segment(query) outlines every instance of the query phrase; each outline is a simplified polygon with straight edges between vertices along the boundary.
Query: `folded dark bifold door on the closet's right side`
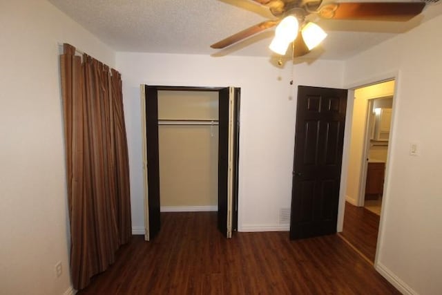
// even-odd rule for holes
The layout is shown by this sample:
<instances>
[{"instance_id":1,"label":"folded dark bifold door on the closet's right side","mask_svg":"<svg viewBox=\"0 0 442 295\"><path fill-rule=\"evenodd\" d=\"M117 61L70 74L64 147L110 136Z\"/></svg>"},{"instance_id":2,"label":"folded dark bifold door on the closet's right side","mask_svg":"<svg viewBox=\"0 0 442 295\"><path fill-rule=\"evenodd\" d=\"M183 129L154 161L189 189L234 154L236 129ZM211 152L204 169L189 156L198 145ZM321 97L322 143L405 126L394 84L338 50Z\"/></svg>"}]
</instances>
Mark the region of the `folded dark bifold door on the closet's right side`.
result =
<instances>
[{"instance_id":1,"label":"folded dark bifold door on the closet's right side","mask_svg":"<svg viewBox=\"0 0 442 295\"><path fill-rule=\"evenodd\" d=\"M218 229L227 238L238 226L240 89L219 91Z\"/></svg>"}]
</instances>

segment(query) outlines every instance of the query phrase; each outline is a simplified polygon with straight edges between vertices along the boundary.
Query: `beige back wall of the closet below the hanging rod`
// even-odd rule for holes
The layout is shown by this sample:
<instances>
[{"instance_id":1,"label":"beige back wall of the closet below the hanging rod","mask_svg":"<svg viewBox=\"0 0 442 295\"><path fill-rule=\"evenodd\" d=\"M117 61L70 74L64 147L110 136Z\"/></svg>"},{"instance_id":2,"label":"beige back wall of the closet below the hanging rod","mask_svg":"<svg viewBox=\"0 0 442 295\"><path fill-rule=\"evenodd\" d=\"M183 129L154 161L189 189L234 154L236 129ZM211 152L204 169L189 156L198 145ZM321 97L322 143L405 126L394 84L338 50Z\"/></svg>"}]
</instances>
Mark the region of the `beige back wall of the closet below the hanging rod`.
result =
<instances>
[{"instance_id":1,"label":"beige back wall of the closet below the hanging rod","mask_svg":"<svg viewBox=\"0 0 442 295\"><path fill-rule=\"evenodd\" d=\"M218 204L218 126L160 126L162 207Z\"/></svg>"}]
</instances>

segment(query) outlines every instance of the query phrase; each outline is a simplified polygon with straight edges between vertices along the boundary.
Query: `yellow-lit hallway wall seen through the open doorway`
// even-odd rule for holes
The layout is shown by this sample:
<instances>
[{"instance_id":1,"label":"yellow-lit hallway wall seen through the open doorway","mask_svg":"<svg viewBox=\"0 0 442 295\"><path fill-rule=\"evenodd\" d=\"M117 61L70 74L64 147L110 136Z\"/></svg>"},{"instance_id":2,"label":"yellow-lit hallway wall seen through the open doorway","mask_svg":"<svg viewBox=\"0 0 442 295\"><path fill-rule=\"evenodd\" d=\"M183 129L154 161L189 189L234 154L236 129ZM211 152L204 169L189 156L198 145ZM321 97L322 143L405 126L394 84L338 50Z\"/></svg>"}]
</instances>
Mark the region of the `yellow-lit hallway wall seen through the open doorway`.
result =
<instances>
[{"instance_id":1,"label":"yellow-lit hallway wall seen through the open doorway","mask_svg":"<svg viewBox=\"0 0 442 295\"><path fill-rule=\"evenodd\" d=\"M365 149L364 135L367 120L368 101L369 99L374 99L376 97L385 97L393 94L394 81L358 88L354 92L355 98L352 116L352 135L350 139L346 192L346 199L352 204L358 204L358 196L361 188L361 164Z\"/></svg>"}]
</instances>

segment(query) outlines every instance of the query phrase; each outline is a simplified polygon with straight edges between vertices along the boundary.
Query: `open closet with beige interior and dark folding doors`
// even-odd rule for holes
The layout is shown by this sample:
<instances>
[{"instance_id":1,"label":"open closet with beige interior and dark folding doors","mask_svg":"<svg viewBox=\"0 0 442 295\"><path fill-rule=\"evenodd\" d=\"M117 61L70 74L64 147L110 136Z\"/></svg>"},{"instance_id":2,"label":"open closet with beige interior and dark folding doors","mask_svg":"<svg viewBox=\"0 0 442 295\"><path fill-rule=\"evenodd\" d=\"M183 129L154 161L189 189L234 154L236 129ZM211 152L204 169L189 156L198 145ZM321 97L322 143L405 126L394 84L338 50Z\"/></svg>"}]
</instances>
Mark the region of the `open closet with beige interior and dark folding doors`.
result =
<instances>
[{"instance_id":1,"label":"open closet with beige interior and dark folding doors","mask_svg":"<svg viewBox=\"0 0 442 295\"><path fill-rule=\"evenodd\" d=\"M227 238L238 225L240 88L141 86L145 239L160 211L218 210Z\"/></svg>"}]
</instances>

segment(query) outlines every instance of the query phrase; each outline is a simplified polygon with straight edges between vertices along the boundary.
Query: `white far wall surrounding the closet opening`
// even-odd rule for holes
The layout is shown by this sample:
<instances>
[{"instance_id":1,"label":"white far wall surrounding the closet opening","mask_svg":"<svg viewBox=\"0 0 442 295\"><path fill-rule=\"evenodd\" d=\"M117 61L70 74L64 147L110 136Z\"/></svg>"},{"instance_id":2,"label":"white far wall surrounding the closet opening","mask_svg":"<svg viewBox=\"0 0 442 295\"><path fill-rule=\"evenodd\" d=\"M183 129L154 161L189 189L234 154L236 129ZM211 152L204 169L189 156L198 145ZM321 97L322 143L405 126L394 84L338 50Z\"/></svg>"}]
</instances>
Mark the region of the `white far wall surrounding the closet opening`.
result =
<instances>
[{"instance_id":1,"label":"white far wall surrounding the closet opening","mask_svg":"<svg viewBox=\"0 0 442 295\"><path fill-rule=\"evenodd\" d=\"M299 84L342 86L343 63L316 61L277 68L262 57L117 53L124 77L124 112L131 166L134 233L144 228L140 84L241 88L239 229L287 230L280 208L290 208L296 91Z\"/></svg>"}]
</instances>

